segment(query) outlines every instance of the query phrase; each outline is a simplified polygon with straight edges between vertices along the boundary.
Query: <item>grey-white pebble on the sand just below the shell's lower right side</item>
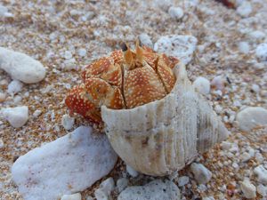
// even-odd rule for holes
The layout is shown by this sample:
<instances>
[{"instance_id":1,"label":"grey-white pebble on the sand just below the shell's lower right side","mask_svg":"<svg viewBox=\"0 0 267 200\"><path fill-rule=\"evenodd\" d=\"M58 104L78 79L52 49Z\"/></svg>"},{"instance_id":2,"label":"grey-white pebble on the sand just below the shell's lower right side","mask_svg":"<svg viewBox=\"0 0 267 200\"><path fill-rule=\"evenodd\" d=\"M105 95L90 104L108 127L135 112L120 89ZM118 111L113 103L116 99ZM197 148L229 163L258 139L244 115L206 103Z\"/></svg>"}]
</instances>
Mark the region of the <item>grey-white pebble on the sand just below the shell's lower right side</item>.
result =
<instances>
[{"instance_id":1,"label":"grey-white pebble on the sand just below the shell's lower right side","mask_svg":"<svg viewBox=\"0 0 267 200\"><path fill-rule=\"evenodd\" d=\"M212 178L212 172L206 169L203 164L192 163L190 171L193 172L194 178L199 184L206 184Z\"/></svg>"}]
</instances>

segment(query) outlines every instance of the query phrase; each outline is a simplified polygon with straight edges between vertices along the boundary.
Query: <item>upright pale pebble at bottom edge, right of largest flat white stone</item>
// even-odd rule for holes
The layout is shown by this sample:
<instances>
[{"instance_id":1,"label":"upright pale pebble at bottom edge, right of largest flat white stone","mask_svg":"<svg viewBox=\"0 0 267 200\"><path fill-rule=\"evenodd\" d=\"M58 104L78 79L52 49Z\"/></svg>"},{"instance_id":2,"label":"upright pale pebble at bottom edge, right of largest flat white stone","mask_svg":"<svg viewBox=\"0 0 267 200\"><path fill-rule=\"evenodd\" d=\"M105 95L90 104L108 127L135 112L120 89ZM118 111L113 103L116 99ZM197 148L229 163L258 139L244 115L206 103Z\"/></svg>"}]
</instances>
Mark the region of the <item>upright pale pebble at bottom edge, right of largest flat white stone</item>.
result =
<instances>
[{"instance_id":1,"label":"upright pale pebble at bottom edge, right of largest flat white stone","mask_svg":"<svg viewBox=\"0 0 267 200\"><path fill-rule=\"evenodd\" d=\"M94 192L94 196L97 200L108 200L111 191L115 188L113 178L109 178L101 182L100 188L97 188Z\"/></svg>"}]
</instances>

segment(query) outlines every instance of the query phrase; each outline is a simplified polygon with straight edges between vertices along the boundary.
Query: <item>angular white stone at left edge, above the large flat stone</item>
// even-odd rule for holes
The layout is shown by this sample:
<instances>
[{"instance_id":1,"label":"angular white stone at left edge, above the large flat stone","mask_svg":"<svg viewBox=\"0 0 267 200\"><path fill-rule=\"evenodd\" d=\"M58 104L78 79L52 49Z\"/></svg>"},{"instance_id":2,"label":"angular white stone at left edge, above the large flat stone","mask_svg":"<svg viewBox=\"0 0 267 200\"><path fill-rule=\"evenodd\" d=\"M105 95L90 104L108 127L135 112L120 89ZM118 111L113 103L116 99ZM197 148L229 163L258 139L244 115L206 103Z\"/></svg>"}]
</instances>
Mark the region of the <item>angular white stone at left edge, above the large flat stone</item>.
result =
<instances>
[{"instance_id":1,"label":"angular white stone at left edge, above the large flat stone","mask_svg":"<svg viewBox=\"0 0 267 200\"><path fill-rule=\"evenodd\" d=\"M15 128L20 128L28 121L28 107L2 108L4 118Z\"/></svg>"}]
</instances>

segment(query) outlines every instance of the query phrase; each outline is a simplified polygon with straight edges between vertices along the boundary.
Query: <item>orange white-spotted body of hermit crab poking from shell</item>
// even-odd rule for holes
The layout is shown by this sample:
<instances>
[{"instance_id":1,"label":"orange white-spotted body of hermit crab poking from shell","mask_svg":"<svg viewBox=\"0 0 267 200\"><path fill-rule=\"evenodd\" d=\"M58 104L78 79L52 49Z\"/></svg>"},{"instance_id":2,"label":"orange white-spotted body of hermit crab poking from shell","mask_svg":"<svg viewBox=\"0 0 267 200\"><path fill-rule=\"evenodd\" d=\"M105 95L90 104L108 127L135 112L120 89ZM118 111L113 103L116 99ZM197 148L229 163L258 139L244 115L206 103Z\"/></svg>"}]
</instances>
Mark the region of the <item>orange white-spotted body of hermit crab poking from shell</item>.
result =
<instances>
[{"instance_id":1,"label":"orange white-spotted body of hermit crab poking from shell","mask_svg":"<svg viewBox=\"0 0 267 200\"><path fill-rule=\"evenodd\" d=\"M84 83L73 88L65 102L71 112L101 124L102 105L134 108L165 97L174 87L172 68L178 61L138 42L135 51L124 45L123 51L87 66L82 73Z\"/></svg>"}]
</instances>

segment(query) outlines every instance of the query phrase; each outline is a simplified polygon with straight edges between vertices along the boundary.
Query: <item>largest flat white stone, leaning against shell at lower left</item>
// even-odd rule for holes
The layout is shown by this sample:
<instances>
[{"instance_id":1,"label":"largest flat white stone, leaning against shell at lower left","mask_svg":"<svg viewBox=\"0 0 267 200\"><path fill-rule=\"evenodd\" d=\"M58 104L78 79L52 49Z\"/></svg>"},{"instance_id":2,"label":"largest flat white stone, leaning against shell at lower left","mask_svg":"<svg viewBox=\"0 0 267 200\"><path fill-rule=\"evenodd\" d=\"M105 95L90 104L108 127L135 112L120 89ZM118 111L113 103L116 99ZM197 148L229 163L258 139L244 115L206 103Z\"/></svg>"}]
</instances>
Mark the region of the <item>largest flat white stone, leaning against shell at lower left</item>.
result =
<instances>
[{"instance_id":1,"label":"largest flat white stone, leaning against shell at lower left","mask_svg":"<svg viewBox=\"0 0 267 200\"><path fill-rule=\"evenodd\" d=\"M105 134L80 126L20 156L12 165L12 180L25 200L55 200L91 187L113 169L116 161Z\"/></svg>"}]
</instances>

